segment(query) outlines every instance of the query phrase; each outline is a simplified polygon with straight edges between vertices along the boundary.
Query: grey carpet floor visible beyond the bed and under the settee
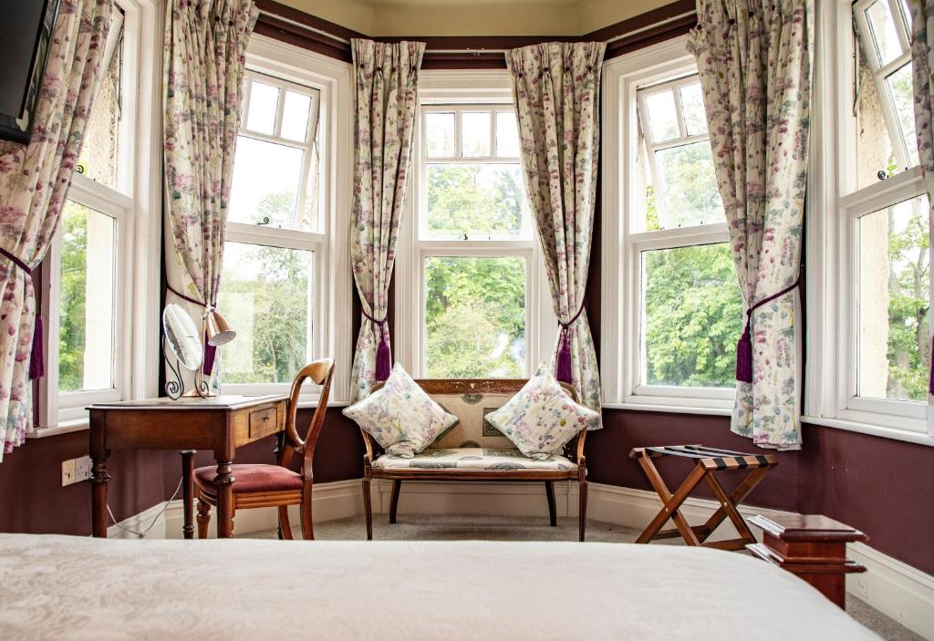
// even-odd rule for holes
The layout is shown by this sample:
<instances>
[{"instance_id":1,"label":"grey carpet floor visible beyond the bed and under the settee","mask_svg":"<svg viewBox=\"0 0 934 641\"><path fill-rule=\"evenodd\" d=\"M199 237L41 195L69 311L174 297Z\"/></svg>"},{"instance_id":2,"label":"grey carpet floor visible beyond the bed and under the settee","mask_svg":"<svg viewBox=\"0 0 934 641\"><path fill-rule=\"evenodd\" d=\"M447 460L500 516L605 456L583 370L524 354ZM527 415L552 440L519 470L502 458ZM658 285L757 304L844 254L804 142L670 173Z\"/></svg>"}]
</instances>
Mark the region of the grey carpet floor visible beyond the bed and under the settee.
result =
<instances>
[{"instance_id":1,"label":"grey carpet floor visible beyond the bed and under the settee","mask_svg":"<svg viewBox=\"0 0 934 641\"><path fill-rule=\"evenodd\" d=\"M292 523L292 531L301 537L301 527ZM631 543L639 532L628 527L589 521L587 540L609 543ZM249 538L276 538L276 531L243 535ZM577 540L577 519L559 519L557 527L548 525L547 518L492 517L460 515L400 514L398 523L389 525L385 514L375 514L373 536L376 540L415 541L574 541ZM362 540L366 528L362 516L315 523L315 537L331 540ZM659 541L661 544L679 545L677 539ZM653 545L656 545L653 543ZM860 601L852 594L846 596L847 613L879 634L887 641L924 641L923 637L886 617L882 612Z\"/></svg>"}]
</instances>

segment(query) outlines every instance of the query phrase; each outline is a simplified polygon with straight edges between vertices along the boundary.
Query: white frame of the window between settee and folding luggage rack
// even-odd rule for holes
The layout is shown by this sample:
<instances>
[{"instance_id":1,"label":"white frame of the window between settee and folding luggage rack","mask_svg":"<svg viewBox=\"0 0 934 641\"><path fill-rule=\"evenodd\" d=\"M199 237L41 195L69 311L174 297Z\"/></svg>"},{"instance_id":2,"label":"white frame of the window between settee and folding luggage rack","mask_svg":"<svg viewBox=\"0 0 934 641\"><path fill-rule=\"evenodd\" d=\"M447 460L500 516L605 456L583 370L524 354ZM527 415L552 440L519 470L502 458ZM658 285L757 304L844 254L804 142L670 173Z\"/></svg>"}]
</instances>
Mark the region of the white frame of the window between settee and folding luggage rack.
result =
<instances>
[{"instance_id":1,"label":"white frame of the window between settee and folding luggage rack","mask_svg":"<svg viewBox=\"0 0 934 641\"><path fill-rule=\"evenodd\" d=\"M603 68L601 384L610 409L729 414L735 388L646 385L642 358L642 252L729 241L726 223L644 231L640 202L639 87L671 88L697 73L686 36L634 51ZM672 83L665 82L670 78ZM651 90L650 90L651 91ZM660 88L659 90L660 91ZM681 132L686 134L683 129ZM682 137L683 145L706 136ZM651 144L651 139L646 138ZM665 141L659 146L671 146ZM612 177L611 177L612 176ZM659 193L658 200L663 200ZM620 278L614 278L620 274ZM738 338L738 337L737 337Z\"/></svg>"}]
</instances>

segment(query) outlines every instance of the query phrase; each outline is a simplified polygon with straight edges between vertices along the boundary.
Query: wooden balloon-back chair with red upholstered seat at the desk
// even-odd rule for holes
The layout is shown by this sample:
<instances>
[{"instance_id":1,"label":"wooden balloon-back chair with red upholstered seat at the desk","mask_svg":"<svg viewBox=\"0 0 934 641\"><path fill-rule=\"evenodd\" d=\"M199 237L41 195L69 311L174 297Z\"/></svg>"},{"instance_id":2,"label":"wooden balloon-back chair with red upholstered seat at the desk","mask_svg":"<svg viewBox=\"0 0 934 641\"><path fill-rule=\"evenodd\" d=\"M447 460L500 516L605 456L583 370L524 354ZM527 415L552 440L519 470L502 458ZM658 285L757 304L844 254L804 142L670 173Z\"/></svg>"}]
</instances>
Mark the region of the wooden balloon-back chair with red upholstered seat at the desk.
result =
<instances>
[{"instance_id":1,"label":"wooden balloon-back chair with red upholstered seat at the desk","mask_svg":"<svg viewBox=\"0 0 934 641\"><path fill-rule=\"evenodd\" d=\"M273 508L279 509L279 538L291 538L289 506L302 506L302 536L315 538L311 520L311 488L314 482L312 459L315 445L324 426L324 415L328 410L328 396L331 393L331 378L334 373L333 358L323 358L310 363L295 376L289 398L289 411L286 415L285 433L279 448L276 465L234 465L233 466L233 514L238 509ZM298 398L305 379L321 385L318 407L308 425L304 439L295 429L295 414L298 411ZM302 471L293 472L289 466L292 456L302 454ZM211 506L217 507L218 493L214 478L216 467L198 467L194 470L195 494L198 497L198 538L207 537L207 525L211 521Z\"/></svg>"}]
</instances>

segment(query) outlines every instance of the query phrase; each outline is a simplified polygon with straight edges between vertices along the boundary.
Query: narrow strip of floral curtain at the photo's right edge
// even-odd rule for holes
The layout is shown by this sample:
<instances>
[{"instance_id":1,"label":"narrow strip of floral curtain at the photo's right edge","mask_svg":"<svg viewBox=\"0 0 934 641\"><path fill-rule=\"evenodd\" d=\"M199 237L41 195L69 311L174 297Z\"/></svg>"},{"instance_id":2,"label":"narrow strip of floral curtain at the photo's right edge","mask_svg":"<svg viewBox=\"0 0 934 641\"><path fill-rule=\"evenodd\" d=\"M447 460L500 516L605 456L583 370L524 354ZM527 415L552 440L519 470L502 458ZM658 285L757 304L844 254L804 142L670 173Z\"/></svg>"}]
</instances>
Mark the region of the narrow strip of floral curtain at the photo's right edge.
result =
<instances>
[{"instance_id":1,"label":"narrow strip of floral curtain at the photo's right edge","mask_svg":"<svg viewBox=\"0 0 934 641\"><path fill-rule=\"evenodd\" d=\"M934 93L934 49L927 28L934 33L934 0L908 0L912 14L912 69L914 85L914 131L918 135L918 159L924 174L927 201L930 202L928 246L934 247L934 132L931 132L931 98ZM934 347L934 343L932 343ZM929 363L927 391L934 394L934 349Z\"/></svg>"}]
</instances>

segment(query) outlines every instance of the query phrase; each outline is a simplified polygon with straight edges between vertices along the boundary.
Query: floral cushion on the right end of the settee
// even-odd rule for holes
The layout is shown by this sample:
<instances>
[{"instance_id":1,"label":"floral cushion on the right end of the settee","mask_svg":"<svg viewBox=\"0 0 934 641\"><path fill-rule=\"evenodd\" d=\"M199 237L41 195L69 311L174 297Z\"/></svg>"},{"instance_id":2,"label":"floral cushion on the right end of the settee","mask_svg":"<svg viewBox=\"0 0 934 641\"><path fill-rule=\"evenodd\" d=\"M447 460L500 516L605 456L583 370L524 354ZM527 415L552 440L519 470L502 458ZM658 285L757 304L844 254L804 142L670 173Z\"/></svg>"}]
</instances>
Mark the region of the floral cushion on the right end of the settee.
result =
<instances>
[{"instance_id":1,"label":"floral cushion on the right end of the settee","mask_svg":"<svg viewBox=\"0 0 934 641\"><path fill-rule=\"evenodd\" d=\"M497 411L487 414L529 458L542 460L574 435L600 418L600 414L573 401L543 363L535 376Z\"/></svg>"}]
</instances>

